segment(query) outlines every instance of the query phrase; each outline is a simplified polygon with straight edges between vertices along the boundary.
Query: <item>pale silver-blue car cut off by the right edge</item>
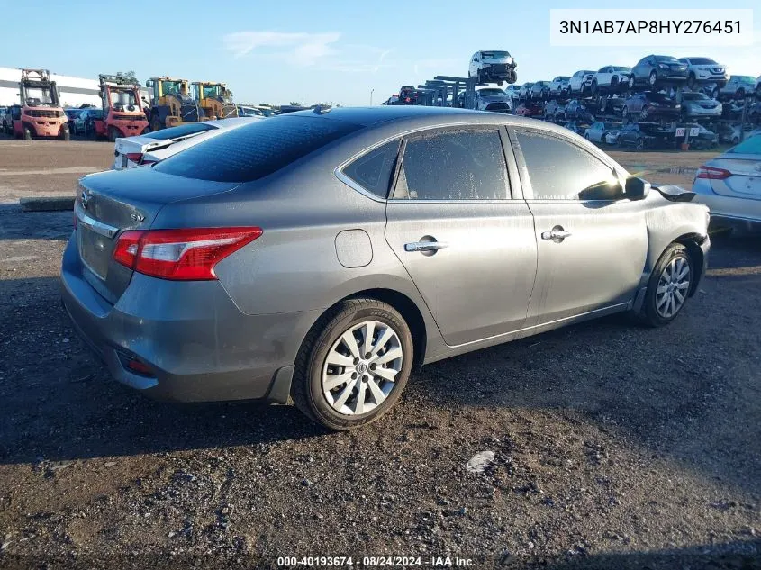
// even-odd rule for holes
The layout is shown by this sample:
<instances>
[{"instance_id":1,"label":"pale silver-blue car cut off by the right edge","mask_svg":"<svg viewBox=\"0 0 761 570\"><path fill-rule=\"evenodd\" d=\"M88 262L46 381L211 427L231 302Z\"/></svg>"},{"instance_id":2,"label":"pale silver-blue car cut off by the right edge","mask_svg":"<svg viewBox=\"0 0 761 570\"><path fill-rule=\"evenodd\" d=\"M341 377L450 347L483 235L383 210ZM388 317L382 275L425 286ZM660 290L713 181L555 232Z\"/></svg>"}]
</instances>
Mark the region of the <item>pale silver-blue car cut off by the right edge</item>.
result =
<instances>
[{"instance_id":1,"label":"pale silver-blue car cut off by the right edge","mask_svg":"<svg viewBox=\"0 0 761 570\"><path fill-rule=\"evenodd\" d=\"M761 134L700 167L693 192L711 209L714 225L761 231Z\"/></svg>"}]
</instances>

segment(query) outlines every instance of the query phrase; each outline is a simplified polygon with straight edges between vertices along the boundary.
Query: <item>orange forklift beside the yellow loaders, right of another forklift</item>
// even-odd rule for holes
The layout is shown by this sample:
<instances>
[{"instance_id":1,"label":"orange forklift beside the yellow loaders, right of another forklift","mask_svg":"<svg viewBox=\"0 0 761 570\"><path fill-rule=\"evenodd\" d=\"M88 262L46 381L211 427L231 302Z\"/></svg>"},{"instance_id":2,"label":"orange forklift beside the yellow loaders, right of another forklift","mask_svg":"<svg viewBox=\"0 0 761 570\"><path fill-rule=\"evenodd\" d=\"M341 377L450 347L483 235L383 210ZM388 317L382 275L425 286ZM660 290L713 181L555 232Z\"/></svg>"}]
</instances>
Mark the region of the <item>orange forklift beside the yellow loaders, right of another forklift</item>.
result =
<instances>
[{"instance_id":1,"label":"orange forklift beside the yellow loaders, right of another forklift","mask_svg":"<svg viewBox=\"0 0 761 570\"><path fill-rule=\"evenodd\" d=\"M121 74L101 74L100 96L103 101L103 119L93 121L95 137L133 137L148 131L148 118L140 104L140 84Z\"/></svg>"}]
</instances>

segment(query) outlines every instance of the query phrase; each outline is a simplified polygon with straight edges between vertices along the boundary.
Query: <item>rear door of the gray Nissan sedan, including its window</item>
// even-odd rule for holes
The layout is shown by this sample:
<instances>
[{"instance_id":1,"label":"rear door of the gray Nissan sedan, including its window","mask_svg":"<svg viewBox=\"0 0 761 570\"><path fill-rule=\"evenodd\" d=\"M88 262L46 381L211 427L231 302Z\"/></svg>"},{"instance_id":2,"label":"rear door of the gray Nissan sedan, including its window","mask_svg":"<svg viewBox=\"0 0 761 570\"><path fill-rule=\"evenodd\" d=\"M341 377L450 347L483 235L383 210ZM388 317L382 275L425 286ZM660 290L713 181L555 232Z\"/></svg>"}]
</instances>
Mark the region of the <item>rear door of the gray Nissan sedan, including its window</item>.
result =
<instances>
[{"instance_id":1,"label":"rear door of the gray Nissan sedan, including its window","mask_svg":"<svg viewBox=\"0 0 761 570\"><path fill-rule=\"evenodd\" d=\"M537 244L499 125L423 131L403 140L385 236L450 346L526 321ZM509 147L507 147L509 149Z\"/></svg>"}]
</instances>

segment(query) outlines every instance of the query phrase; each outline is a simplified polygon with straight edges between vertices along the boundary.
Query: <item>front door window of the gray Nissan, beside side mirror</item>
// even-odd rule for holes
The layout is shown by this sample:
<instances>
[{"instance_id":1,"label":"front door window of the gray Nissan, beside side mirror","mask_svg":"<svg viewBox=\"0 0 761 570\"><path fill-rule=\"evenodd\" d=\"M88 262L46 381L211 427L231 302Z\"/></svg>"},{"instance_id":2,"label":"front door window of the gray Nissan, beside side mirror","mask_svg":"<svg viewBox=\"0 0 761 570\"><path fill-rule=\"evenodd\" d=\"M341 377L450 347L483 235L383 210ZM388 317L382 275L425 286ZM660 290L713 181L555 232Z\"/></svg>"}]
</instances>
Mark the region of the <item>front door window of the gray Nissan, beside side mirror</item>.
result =
<instances>
[{"instance_id":1,"label":"front door window of the gray Nissan, beside side mirror","mask_svg":"<svg viewBox=\"0 0 761 570\"><path fill-rule=\"evenodd\" d=\"M517 131L534 200L616 200L623 190L613 169L562 139Z\"/></svg>"}]
</instances>

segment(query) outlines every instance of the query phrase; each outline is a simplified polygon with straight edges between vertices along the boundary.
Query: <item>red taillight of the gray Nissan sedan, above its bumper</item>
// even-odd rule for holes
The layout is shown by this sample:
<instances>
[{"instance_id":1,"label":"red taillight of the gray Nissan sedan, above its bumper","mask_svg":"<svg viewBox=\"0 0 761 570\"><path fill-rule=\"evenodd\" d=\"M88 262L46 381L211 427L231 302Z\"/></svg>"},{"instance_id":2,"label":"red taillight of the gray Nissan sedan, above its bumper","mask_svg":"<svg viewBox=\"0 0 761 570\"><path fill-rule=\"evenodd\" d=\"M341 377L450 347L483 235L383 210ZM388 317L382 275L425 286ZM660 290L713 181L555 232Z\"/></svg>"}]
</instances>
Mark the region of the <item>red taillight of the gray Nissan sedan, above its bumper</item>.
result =
<instances>
[{"instance_id":1,"label":"red taillight of the gray Nissan sedan, above its bumper","mask_svg":"<svg viewBox=\"0 0 761 570\"><path fill-rule=\"evenodd\" d=\"M113 259L161 279L211 280L217 263L261 234L261 228L125 231Z\"/></svg>"}]
</instances>

